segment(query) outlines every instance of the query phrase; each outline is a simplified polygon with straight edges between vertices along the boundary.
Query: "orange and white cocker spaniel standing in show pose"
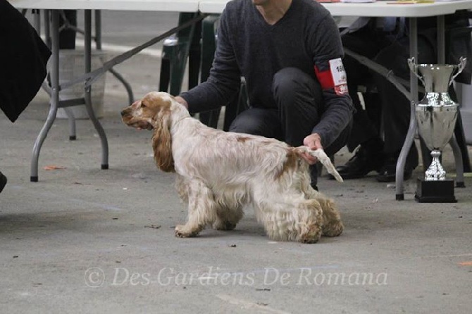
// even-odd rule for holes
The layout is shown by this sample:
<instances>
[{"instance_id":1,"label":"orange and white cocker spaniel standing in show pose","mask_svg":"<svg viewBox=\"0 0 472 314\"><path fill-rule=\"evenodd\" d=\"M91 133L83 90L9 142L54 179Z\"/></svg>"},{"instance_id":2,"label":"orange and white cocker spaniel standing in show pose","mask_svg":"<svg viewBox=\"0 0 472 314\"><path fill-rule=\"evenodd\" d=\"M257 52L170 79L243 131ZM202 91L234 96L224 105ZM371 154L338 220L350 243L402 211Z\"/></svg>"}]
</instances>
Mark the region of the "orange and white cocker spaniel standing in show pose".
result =
<instances>
[{"instance_id":1,"label":"orange and white cocker spaniel standing in show pose","mask_svg":"<svg viewBox=\"0 0 472 314\"><path fill-rule=\"evenodd\" d=\"M188 204L177 237L195 237L206 225L232 230L246 205L273 240L316 243L342 233L335 203L310 186L302 158L310 153L342 181L323 150L206 127L163 92L150 92L121 115L126 125L154 130L156 165L177 173L178 194Z\"/></svg>"}]
</instances>

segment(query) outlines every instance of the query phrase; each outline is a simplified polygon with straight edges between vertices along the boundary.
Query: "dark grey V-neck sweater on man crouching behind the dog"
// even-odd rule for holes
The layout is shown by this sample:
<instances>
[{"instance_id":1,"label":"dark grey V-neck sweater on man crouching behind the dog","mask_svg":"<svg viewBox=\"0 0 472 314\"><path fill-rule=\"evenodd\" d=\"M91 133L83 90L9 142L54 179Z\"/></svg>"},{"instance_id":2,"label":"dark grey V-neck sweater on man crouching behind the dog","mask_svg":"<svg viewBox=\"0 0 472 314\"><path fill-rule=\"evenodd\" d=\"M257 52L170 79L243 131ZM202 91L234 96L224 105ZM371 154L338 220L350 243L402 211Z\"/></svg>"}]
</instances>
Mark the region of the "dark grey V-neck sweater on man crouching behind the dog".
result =
<instances>
[{"instance_id":1,"label":"dark grey V-neck sweater on man crouching behind the dog","mask_svg":"<svg viewBox=\"0 0 472 314\"><path fill-rule=\"evenodd\" d=\"M228 103L244 76L250 105L276 108L271 87L278 70L299 68L317 80L315 65L328 70L328 61L342 56L337 25L316 1L293 0L285 15L269 25L251 0L232 0L221 15L209 79L180 96L190 112L209 111ZM338 95L333 89L325 89L323 99L318 105L322 118L313 133L329 146L349 123L352 102L347 93Z\"/></svg>"}]
</instances>

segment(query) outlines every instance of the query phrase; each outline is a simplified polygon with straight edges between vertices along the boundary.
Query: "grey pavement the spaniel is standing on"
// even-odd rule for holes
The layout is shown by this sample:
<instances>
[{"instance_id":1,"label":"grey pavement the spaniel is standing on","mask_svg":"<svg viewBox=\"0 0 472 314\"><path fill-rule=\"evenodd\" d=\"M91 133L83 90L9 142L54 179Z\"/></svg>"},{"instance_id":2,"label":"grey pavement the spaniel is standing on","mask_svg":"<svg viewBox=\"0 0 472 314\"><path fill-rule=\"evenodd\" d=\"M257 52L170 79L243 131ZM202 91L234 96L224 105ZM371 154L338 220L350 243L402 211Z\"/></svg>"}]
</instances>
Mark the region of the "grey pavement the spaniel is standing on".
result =
<instances>
[{"instance_id":1,"label":"grey pavement the spaniel is standing on","mask_svg":"<svg viewBox=\"0 0 472 314\"><path fill-rule=\"evenodd\" d=\"M140 97L157 88L159 65L138 55L116 70ZM318 186L335 199L345 231L318 244L271 241L251 208L234 231L179 239L173 227L186 213L173 175L154 165L151 132L120 122L125 106L125 89L106 75L108 170L100 170L92 123L77 120L77 140L69 141L68 122L58 119L36 183L30 161L49 109L45 92L16 123L0 115L0 170L8 177L0 313L470 313L470 176L457 203L416 203L414 180L395 201L392 184L373 174L342 184L323 176ZM343 149L335 162L350 156ZM444 161L453 174L449 148Z\"/></svg>"}]
</instances>

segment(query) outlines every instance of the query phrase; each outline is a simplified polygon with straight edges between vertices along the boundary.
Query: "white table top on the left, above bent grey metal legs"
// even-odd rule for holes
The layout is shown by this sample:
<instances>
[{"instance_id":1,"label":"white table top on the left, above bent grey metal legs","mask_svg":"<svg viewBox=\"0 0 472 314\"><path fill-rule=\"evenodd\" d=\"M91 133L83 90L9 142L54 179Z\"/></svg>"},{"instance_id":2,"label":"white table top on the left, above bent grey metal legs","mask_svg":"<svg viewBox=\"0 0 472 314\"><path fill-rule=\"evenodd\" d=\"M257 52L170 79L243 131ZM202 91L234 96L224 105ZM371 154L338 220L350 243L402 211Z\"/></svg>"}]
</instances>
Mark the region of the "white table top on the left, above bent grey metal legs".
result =
<instances>
[{"instance_id":1,"label":"white table top on the left, above bent grey metal legs","mask_svg":"<svg viewBox=\"0 0 472 314\"><path fill-rule=\"evenodd\" d=\"M197 12L199 0L8 0L15 8Z\"/></svg>"}]
</instances>

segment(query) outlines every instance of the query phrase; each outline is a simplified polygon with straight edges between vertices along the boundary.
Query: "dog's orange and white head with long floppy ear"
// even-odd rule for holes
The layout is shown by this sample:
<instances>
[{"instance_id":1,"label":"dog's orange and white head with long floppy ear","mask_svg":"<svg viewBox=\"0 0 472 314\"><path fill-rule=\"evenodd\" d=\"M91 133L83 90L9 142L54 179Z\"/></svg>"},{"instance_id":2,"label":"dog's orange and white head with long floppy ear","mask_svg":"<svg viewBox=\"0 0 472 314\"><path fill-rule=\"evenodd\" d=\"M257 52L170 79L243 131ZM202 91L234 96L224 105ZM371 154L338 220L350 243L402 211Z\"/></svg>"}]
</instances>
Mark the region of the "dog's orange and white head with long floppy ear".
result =
<instances>
[{"instance_id":1,"label":"dog's orange and white head with long floppy ear","mask_svg":"<svg viewBox=\"0 0 472 314\"><path fill-rule=\"evenodd\" d=\"M159 169L174 172L172 156L171 107L175 104L173 97L163 92L150 92L121 111L121 120L125 125L139 129L154 130L152 147L154 159Z\"/></svg>"}]
</instances>

